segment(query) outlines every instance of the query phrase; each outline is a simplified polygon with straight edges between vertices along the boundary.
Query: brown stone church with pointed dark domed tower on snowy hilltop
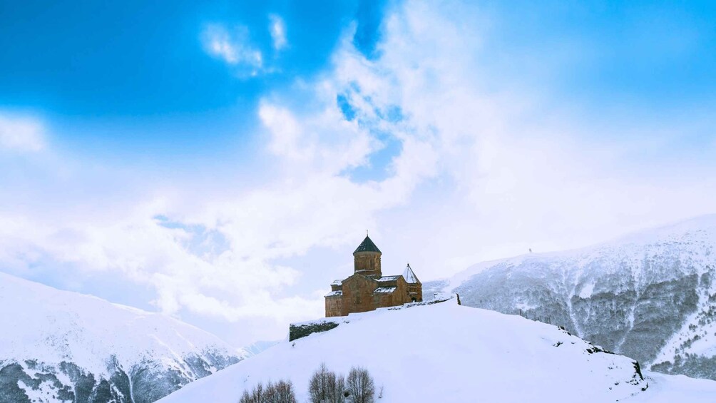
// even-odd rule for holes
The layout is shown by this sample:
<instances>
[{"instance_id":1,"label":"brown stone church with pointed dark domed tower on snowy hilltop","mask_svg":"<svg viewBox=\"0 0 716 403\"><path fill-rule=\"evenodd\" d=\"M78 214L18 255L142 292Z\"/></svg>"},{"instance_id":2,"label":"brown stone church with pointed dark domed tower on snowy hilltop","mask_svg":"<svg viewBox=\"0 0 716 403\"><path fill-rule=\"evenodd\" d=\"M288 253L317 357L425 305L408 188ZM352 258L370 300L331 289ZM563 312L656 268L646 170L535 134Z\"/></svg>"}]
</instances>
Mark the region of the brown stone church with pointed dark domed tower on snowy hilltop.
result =
<instances>
[{"instance_id":1,"label":"brown stone church with pointed dark domed tower on snowy hilltop","mask_svg":"<svg viewBox=\"0 0 716 403\"><path fill-rule=\"evenodd\" d=\"M353 252L353 275L331 283L331 292L326 295L326 317L422 301L422 283L410 264L401 276L383 276L381 255L366 236Z\"/></svg>"}]
</instances>

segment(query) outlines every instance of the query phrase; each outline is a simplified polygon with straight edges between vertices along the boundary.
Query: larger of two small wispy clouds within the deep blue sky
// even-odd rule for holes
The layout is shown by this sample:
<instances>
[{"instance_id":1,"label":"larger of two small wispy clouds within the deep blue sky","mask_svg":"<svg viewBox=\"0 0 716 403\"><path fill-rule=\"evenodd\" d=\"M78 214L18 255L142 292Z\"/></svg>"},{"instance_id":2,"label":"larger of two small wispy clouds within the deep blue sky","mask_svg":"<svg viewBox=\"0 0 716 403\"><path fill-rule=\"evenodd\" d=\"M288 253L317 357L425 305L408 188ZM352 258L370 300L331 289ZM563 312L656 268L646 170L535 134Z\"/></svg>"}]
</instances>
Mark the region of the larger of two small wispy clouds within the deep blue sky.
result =
<instances>
[{"instance_id":1,"label":"larger of two small wispy clouds within the deep blue sky","mask_svg":"<svg viewBox=\"0 0 716 403\"><path fill-rule=\"evenodd\" d=\"M232 66L244 67L251 75L258 74L263 68L263 55L251 46L248 29L244 26L229 31L220 24L211 24L203 32L203 42L208 54Z\"/></svg>"}]
</instances>

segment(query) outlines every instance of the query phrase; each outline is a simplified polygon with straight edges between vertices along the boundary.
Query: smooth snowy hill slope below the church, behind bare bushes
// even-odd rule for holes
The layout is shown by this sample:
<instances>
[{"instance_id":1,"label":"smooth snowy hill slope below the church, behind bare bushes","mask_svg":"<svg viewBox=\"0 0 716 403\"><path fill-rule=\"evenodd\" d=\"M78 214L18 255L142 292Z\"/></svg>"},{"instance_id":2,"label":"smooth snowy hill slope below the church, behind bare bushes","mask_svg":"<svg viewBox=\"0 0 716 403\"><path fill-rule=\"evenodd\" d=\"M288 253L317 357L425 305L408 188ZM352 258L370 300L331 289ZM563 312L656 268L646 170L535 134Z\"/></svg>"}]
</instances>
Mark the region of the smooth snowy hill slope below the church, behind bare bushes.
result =
<instances>
[{"instance_id":1,"label":"smooth snowy hill slope below the church, behind bare bushes","mask_svg":"<svg viewBox=\"0 0 716 403\"><path fill-rule=\"evenodd\" d=\"M344 321L284 341L160 402L235 403L243 390L279 379L290 379L299 402L308 402L309 377L323 362L343 374L366 367L377 389L384 388L378 401L386 403L552 402L557 396L614 402L649 390L632 359L596 352L556 326L458 306L454 299Z\"/></svg>"}]
</instances>

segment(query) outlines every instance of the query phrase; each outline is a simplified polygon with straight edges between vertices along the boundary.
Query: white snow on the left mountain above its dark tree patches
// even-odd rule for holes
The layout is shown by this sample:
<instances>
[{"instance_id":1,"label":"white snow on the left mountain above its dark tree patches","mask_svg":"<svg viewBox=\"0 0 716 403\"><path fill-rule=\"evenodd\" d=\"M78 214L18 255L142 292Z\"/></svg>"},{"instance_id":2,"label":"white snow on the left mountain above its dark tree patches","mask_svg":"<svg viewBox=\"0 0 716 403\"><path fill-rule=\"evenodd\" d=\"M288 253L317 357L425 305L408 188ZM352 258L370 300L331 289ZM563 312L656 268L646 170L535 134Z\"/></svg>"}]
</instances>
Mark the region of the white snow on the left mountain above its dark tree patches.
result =
<instances>
[{"instance_id":1,"label":"white snow on the left mountain above its dark tree patches","mask_svg":"<svg viewBox=\"0 0 716 403\"><path fill-rule=\"evenodd\" d=\"M0 360L71 361L94 374L107 374L116 356L129 369L142 359L168 360L213 350L241 353L216 336L163 314L94 296L60 291L0 273Z\"/></svg>"}]
</instances>

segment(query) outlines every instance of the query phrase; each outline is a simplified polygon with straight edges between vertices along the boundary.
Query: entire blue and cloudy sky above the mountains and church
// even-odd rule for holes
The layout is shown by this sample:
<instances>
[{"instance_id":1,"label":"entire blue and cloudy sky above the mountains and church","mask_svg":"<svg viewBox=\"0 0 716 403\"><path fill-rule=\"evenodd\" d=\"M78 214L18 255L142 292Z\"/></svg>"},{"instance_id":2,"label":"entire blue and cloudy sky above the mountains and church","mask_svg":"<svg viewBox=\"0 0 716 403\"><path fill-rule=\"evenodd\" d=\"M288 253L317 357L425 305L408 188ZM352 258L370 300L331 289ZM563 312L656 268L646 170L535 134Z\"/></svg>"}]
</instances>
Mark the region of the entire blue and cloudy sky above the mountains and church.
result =
<instances>
[{"instance_id":1,"label":"entire blue and cloudy sky above the mountains and church","mask_svg":"<svg viewBox=\"0 0 716 403\"><path fill-rule=\"evenodd\" d=\"M704 1L0 0L0 271L235 346L716 213Z\"/></svg>"}]
</instances>

